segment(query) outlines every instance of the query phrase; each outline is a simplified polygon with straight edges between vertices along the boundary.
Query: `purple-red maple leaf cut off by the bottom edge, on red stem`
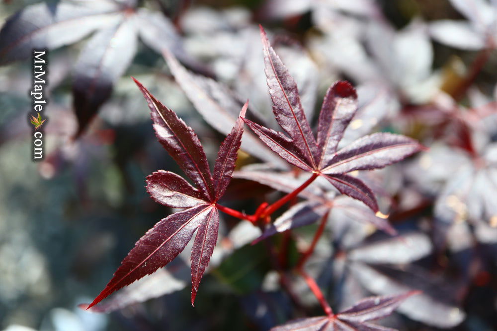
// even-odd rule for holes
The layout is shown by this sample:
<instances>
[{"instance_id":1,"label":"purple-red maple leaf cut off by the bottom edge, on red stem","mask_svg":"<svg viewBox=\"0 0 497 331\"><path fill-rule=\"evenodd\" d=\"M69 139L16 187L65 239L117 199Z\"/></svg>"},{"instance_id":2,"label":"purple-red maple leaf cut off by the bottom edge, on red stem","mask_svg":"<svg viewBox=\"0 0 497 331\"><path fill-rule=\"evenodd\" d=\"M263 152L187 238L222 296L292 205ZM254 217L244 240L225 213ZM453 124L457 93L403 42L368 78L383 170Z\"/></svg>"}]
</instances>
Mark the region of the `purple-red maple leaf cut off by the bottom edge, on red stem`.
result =
<instances>
[{"instance_id":1,"label":"purple-red maple leaf cut off by the bottom edge, on red stem","mask_svg":"<svg viewBox=\"0 0 497 331\"><path fill-rule=\"evenodd\" d=\"M365 298L341 313L291 321L271 331L393 331L368 322L389 316L404 300L417 293L419 291Z\"/></svg>"}]
</instances>

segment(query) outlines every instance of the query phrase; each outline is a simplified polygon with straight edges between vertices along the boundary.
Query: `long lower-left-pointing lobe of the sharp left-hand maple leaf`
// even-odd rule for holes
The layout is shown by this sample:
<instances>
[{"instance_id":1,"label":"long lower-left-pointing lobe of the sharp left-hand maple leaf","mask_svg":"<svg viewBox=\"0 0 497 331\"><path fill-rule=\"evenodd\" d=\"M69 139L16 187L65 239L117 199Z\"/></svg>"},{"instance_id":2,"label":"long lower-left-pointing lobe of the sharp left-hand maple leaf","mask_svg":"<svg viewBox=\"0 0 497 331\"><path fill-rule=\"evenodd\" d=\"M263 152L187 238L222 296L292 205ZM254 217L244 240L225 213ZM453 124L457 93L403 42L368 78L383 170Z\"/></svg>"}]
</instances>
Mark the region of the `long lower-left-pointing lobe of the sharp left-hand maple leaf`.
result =
<instances>
[{"instance_id":1,"label":"long lower-left-pointing lobe of the sharp left-hand maple leaf","mask_svg":"<svg viewBox=\"0 0 497 331\"><path fill-rule=\"evenodd\" d=\"M212 222L211 208L211 205L199 205L159 221L135 244L114 273L114 277L87 308L171 262L183 251L199 225L206 220Z\"/></svg>"}]
</instances>

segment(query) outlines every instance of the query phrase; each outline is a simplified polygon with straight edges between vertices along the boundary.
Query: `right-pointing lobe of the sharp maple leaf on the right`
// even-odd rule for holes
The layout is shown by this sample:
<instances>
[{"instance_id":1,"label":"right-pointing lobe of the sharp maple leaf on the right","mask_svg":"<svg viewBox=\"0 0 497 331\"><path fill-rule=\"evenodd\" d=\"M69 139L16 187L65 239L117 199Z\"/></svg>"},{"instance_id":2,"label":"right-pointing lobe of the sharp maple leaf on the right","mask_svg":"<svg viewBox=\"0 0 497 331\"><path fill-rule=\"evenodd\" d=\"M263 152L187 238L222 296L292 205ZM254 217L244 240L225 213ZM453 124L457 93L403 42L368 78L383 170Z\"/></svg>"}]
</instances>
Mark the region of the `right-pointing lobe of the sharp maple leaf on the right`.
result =
<instances>
[{"instance_id":1,"label":"right-pointing lobe of the sharp maple leaf on the right","mask_svg":"<svg viewBox=\"0 0 497 331\"><path fill-rule=\"evenodd\" d=\"M322 170L325 174L344 174L353 170L383 168L422 149L409 137L392 133L373 133L339 150Z\"/></svg>"}]
</instances>

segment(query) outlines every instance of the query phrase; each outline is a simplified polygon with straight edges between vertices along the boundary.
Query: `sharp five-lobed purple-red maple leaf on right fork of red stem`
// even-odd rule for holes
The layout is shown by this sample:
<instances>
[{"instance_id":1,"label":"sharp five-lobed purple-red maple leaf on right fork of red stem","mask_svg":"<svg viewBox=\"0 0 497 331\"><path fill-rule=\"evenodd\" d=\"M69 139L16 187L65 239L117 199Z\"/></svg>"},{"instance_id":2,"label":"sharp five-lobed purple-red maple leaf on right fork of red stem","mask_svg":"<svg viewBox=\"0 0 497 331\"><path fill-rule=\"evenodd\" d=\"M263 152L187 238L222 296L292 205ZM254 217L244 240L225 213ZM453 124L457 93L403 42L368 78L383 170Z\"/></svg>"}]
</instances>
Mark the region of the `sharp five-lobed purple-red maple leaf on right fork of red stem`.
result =
<instances>
[{"instance_id":1,"label":"sharp five-lobed purple-red maple leaf on right fork of red stem","mask_svg":"<svg viewBox=\"0 0 497 331\"><path fill-rule=\"evenodd\" d=\"M346 81L338 81L328 89L316 139L302 108L295 80L269 44L262 26L260 33L273 113L288 136L247 119L244 119L245 123L286 161L314 176L325 177L340 193L358 199L378 212L371 189L347 173L383 168L414 154L422 146L404 135L382 132L364 136L337 151L338 143L357 111L357 94Z\"/></svg>"}]
</instances>

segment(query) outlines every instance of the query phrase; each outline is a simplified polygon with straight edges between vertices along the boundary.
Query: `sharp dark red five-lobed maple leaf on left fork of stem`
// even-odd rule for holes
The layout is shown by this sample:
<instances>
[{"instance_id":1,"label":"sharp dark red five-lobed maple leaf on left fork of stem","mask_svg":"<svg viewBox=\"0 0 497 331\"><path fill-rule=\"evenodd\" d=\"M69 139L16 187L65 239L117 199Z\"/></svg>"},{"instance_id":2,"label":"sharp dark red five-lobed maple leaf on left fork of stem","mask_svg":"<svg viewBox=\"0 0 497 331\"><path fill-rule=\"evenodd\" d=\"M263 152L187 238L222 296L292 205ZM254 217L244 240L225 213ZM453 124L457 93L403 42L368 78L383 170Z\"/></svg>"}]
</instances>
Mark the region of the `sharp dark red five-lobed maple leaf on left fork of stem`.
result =
<instances>
[{"instance_id":1,"label":"sharp dark red five-lobed maple leaf on left fork of stem","mask_svg":"<svg viewBox=\"0 0 497 331\"><path fill-rule=\"evenodd\" d=\"M159 221L135 244L103 291L88 305L91 308L112 292L171 262L197 231L191 253L191 303L216 245L219 212L216 202L231 181L240 148L244 105L235 127L219 148L211 174L200 141L176 114L158 101L135 79L151 110L157 138L195 187L181 176L160 170L147 177L147 191L153 199L169 207L188 208Z\"/></svg>"}]
</instances>

